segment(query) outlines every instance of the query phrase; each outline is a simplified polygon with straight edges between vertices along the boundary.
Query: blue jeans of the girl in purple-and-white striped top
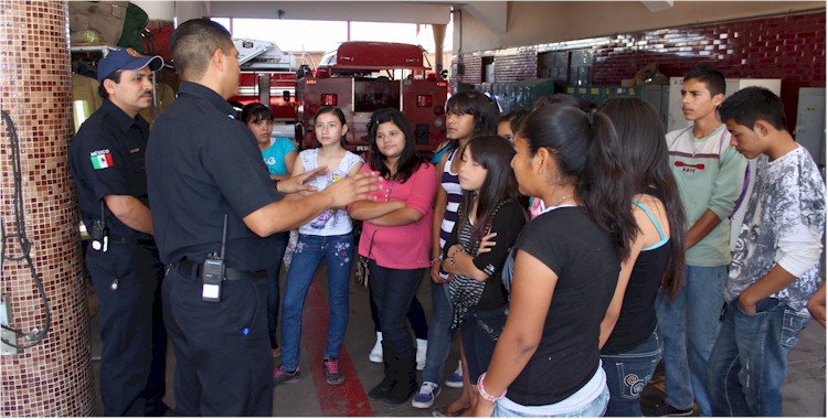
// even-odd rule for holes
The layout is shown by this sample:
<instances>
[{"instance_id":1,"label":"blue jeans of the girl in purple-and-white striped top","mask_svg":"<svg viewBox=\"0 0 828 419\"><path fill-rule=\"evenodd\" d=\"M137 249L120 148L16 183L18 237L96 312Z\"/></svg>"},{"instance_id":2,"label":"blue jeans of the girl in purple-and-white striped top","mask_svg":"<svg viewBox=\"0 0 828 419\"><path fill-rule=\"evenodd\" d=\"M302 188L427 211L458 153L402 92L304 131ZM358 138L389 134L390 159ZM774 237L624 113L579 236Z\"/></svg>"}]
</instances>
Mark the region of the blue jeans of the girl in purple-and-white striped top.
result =
<instances>
[{"instance_id":1,"label":"blue jeans of the girl in purple-and-white striped top","mask_svg":"<svg viewBox=\"0 0 828 419\"><path fill-rule=\"evenodd\" d=\"M432 324L428 326L428 348L425 353L423 382L439 385L452 351L452 302L448 287L432 281Z\"/></svg>"}]
</instances>

